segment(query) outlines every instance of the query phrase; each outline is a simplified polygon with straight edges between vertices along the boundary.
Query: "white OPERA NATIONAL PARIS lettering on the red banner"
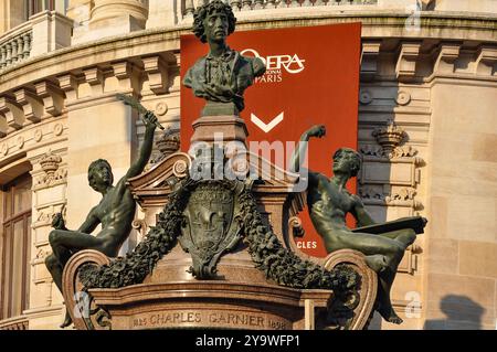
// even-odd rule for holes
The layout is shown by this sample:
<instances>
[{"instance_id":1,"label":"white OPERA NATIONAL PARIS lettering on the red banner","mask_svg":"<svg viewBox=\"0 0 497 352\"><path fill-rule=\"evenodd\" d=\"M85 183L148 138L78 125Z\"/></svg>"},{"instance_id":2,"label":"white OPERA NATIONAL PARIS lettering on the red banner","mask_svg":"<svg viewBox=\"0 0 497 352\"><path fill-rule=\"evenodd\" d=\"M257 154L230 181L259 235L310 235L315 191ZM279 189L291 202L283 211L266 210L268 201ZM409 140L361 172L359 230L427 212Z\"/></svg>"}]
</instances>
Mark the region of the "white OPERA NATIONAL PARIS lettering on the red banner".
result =
<instances>
[{"instance_id":1,"label":"white OPERA NATIONAL PARIS lettering on the red banner","mask_svg":"<svg viewBox=\"0 0 497 352\"><path fill-rule=\"evenodd\" d=\"M283 81L283 71L290 75L298 74L304 71L305 60L298 57L297 54L292 55L269 55L263 57L253 49L245 49L242 55L258 57L266 65L266 72L261 77L256 77L256 83L278 83Z\"/></svg>"}]
</instances>

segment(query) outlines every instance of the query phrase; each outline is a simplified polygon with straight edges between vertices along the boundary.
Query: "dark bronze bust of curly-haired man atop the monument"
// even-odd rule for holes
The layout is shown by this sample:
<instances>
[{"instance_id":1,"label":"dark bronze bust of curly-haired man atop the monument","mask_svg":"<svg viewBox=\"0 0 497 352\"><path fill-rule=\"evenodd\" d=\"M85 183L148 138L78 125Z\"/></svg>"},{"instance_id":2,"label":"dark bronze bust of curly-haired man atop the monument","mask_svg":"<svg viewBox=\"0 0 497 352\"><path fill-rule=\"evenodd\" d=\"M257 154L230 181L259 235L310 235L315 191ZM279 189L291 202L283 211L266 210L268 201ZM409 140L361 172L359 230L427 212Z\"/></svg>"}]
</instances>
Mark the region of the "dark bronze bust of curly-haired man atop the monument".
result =
<instances>
[{"instance_id":1,"label":"dark bronze bust of curly-haired man atop the monument","mask_svg":"<svg viewBox=\"0 0 497 352\"><path fill-rule=\"evenodd\" d=\"M235 23L231 7L220 0L199 7L194 13L193 33L210 50L190 67L183 84L209 102L203 115L226 115L230 104L235 108L231 113L242 111L243 93L266 71L261 58L242 56L226 45L226 36L234 32Z\"/></svg>"}]
</instances>

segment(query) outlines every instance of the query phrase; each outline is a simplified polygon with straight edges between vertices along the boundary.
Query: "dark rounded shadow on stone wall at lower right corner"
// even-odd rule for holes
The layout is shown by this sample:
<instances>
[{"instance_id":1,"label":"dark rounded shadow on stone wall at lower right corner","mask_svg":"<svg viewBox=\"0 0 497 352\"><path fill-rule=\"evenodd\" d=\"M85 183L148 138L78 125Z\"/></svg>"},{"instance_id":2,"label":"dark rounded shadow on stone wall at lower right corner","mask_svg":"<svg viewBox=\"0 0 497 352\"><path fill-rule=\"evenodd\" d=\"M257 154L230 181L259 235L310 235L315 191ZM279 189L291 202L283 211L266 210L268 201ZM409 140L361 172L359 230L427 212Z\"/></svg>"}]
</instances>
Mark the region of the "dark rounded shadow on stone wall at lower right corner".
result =
<instances>
[{"instance_id":1,"label":"dark rounded shadow on stone wall at lower right corner","mask_svg":"<svg viewBox=\"0 0 497 352\"><path fill-rule=\"evenodd\" d=\"M482 330L485 308L466 296L447 295L442 298L440 310L446 319L430 319L425 330Z\"/></svg>"}]
</instances>

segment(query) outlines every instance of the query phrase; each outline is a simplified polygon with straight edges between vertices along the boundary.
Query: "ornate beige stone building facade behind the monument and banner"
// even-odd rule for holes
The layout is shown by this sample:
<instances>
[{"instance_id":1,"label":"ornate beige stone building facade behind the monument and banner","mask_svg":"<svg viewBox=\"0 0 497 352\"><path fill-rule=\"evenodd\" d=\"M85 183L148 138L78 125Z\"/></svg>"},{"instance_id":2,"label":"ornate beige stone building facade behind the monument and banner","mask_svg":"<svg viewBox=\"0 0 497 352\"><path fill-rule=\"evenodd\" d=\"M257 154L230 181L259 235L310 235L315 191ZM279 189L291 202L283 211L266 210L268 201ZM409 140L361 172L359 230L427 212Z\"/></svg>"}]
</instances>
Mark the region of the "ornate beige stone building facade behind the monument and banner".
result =
<instances>
[{"instance_id":1,"label":"ornate beige stone building facade behind the monument and banner","mask_svg":"<svg viewBox=\"0 0 497 352\"><path fill-rule=\"evenodd\" d=\"M29 305L0 328L52 329L62 320L43 264L52 215L64 207L67 226L78 227L99 201L86 192L92 160L108 159L116 178L129 167L144 127L116 93L140 97L179 129L179 39L198 1L71 0L65 14L28 21L21 1L0 3L0 182L33 180ZM430 220L393 287L401 328L494 329L495 1L231 3L239 30L362 22L360 195L378 220ZM157 146L157 160L172 143ZM137 218L128 248L155 223ZM393 327L373 319L371 328Z\"/></svg>"}]
</instances>

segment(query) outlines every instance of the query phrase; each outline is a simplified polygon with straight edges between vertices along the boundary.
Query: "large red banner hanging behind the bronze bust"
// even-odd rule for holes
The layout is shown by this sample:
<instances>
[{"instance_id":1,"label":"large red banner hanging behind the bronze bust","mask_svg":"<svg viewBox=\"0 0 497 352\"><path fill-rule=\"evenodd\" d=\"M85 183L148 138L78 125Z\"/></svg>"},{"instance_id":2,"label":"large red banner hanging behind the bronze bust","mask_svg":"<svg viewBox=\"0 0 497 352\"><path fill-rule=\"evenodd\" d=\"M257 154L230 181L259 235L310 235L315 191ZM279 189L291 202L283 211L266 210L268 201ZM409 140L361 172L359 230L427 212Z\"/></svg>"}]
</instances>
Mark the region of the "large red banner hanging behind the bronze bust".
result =
<instances>
[{"instance_id":1,"label":"large red banner hanging behind the bronze bust","mask_svg":"<svg viewBox=\"0 0 497 352\"><path fill-rule=\"evenodd\" d=\"M244 56L263 58L267 68L245 90L241 117L248 130L247 143L283 142L292 150L285 150L286 166L278 166L288 170L300 135L314 125L325 125L326 136L309 141L307 162L310 170L330 177L334 152L340 147L357 149L361 24L236 31L228 38L228 44ZM209 46L193 34L181 36L181 79L208 52ZM203 99L181 85L183 151L188 151L191 124L200 117L203 106ZM275 161L274 154L265 158ZM348 189L356 192L355 180ZM307 209L299 216L306 235L297 239L297 246L309 255L326 256ZM351 225L350 218L348 224Z\"/></svg>"}]
</instances>

